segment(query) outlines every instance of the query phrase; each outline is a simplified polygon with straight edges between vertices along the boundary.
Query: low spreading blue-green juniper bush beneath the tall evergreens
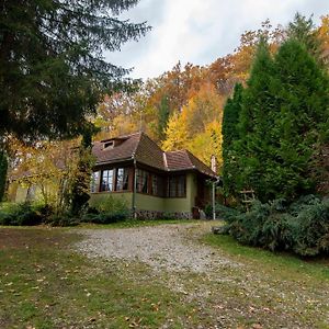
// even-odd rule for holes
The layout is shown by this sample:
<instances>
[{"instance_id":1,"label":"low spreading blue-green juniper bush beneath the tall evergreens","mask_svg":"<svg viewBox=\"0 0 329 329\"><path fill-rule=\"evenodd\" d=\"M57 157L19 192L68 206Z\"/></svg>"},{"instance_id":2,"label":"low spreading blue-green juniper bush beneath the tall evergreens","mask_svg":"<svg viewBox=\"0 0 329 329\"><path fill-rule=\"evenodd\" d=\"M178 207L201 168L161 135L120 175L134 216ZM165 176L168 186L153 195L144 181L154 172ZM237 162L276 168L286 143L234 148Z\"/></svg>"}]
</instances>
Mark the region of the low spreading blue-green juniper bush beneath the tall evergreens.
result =
<instances>
[{"instance_id":1,"label":"low spreading blue-green juniper bush beneath the tall evergreens","mask_svg":"<svg viewBox=\"0 0 329 329\"><path fill-rule=\"evenodd\" d=\"M241 243L299 256L329 254L329 200L303 196L292 205L284 200L256 201L248 213L227 211L226 230Z\"/></svg>"}]
</instances>

